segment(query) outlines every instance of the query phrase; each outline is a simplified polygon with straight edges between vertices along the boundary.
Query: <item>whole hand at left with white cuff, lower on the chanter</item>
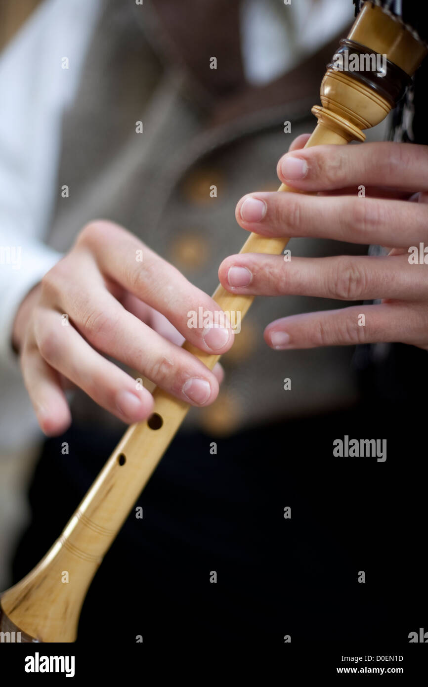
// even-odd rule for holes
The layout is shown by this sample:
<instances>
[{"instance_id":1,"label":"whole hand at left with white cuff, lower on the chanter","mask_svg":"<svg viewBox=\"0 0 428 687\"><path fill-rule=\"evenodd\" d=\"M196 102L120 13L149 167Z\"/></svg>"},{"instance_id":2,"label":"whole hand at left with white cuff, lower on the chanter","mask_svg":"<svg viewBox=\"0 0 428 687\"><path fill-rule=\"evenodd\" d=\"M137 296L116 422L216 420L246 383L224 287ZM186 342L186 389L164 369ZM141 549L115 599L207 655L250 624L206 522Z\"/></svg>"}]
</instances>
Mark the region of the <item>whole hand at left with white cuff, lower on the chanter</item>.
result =
<instances>
[{"instance_id":1,"label":"whole hand at left with white cuff, lower on the chanter","mask_svg":"<svg viewBox=\"0 0 428 687\"><path fill-rule=\"evenodd\" d=\"M142 251L142 262L136 251ZM71 423L67 381L127 424L150 416L150 392L100 353L186 403L212 403L221 372L211 372L177 344L184 338L202 351L223 354L234 334L231 328L189 328L188 311L198 313L200 307L220 310L133 234L107 221L87 225L23 300L14 321L12 342L41 429L54 436ZM164 335L152 328L156 322ZM168 340L172 325L178 330L175 342Z\"/></svg>"}]
</instances>

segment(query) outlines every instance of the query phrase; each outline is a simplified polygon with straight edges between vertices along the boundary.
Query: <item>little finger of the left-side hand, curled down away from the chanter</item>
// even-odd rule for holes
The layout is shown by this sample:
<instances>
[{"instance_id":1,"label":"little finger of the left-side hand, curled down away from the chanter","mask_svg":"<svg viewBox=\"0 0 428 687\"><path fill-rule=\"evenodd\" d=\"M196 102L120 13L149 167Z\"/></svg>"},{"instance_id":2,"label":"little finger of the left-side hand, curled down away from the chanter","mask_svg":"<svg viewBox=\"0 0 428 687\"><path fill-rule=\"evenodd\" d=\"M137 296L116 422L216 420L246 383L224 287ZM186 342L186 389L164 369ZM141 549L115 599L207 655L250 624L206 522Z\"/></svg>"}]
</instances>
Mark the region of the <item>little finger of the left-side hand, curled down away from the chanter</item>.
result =
<instances>
[{"instance_id":1,"label":"little finger of the left-side hand, curled down away from the chanter","mask_svg":"<svg viewBox=\"0 0 428 687\"><path fill-rule=\"evenodd\" d=\"M42 431L47 436L62 434L71 423L71 414L58 372L43 360L35 345L29 344L23 346L21 370Z\"/></svg>"}]
</instances>

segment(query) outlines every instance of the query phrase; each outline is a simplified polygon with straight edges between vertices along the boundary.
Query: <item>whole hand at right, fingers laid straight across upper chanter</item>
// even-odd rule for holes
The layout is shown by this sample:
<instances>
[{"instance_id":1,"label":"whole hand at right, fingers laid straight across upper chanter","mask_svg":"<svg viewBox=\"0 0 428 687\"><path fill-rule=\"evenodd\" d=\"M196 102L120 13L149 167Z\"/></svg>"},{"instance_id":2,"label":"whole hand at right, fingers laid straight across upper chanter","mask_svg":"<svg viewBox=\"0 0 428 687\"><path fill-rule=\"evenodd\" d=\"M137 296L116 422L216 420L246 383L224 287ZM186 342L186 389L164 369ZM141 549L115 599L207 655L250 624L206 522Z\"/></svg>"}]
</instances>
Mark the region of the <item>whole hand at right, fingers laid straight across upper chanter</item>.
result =
<instances>
[{"instance_id":1,"label":"whole hand at right, fingers laid straight across upper chanter","mask_svg":"<svg viewBox=\"0 0 428 687\"><path fill-rule=\"evenodd\" d=\"M248 194L236 207L238 224L262 236L312 236L382 245L390 247L390 254L291 255L289 262L284 256L229 256L218 271L221 283L232 293L248 295L381 300L376 305L292 315L271 322L264 331L271 348L400 341L427 349L428 267L409 261L410 247L428 245L427 146L367 143L302 150L307 139L307 135L296 139L280 159L278 177L313 195ZM358 195L361 185L365 197Z\"/></svg>"}]
</instances>

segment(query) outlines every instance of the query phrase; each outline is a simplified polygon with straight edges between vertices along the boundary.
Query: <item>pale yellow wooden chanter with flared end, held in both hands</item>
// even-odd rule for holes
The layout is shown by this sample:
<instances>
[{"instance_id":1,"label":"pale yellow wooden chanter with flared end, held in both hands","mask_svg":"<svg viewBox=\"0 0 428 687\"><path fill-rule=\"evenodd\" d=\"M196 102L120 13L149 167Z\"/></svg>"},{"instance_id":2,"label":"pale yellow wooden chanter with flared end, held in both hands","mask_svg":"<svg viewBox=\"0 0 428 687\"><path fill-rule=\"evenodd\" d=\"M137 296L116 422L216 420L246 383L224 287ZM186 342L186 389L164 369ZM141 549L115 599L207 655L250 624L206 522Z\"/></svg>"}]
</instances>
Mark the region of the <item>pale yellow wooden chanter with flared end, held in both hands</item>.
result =
<instances>
[{"instance_id":1,"label":"pale yellow wooden chanter with flared end, held in both hands","mask_svg":"<svg viewBox=\"0 0 428 687\"><path fill-rule=\"evenodd\" d=\"M400 19L368 1L337 54L387 56L385 74L337 71L328 65L321 85L322 106L306 146L363 142L362 129L379 124L394 108L427 54L426 45ZM361 60L365 58L362 57ZM334 66L337 67L338 60ZM280 191L291 190L282 184ZM284 238L250 234L241 253L280 254ZM214 300L224 311L244 317L252 297L233 295L218 286ZM212 369L218 355L184 343ZM21 631L26 642L74 642L87 589L117 532L135 504L189 406L157 389L155 412L131 425L89 489L76 513L45 557L23 580L0 598L0 631ZM63 584L63 571L69 583Z\"/></svg>"}]
</instances>

